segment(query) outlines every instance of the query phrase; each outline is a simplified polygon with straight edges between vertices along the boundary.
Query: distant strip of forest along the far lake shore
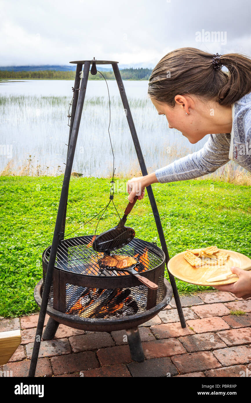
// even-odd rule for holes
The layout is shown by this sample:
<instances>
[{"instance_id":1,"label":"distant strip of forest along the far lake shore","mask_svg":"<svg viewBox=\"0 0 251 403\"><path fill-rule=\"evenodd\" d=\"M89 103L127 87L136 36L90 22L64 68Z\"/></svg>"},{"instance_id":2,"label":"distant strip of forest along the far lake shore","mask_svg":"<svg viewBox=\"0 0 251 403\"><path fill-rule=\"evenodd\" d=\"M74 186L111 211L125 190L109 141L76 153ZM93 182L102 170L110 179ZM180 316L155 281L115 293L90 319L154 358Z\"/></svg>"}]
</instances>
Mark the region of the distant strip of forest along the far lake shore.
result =
<instances>
[{"instance_id":1,"label":"distant strip of forest along the far lake shore","mask_svg":"<svg viewBox=\"0 0 251 403\"><path fill-rule=\"evenodd\" d=\"M122 69L120 74L123 80L149 80L151 75L151 69ZM102 71L102 74L107 80L115 80L113 71ZM75 71L56 71L56 70L41 70L41 71L0 71L0 79L13 79L13 80L29 80L29 79L44 79L44 80L74 80ZM100 73L91 75L89 73L90 80L103 79Z\"/></svg>"}]
</instances>

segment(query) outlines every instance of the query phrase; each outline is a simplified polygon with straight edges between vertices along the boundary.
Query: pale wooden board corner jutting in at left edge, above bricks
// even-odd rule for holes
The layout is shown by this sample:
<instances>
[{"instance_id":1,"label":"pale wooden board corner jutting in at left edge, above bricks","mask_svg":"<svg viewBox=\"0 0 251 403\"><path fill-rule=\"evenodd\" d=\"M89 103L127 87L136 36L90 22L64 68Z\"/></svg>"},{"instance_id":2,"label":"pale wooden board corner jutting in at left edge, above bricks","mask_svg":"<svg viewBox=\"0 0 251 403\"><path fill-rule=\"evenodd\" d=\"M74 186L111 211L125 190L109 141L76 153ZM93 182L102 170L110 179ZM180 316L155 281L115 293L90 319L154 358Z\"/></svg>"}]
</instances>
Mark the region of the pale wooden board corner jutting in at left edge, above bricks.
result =
<instances>
[{"instance_id":1,"label":"pale wooden board corner jutting in at left edge, above bricks","mask_svg":"<svg viewBox=\"0 0 251 403\"><path fill-rule=\"evenodd\" d=\"M10 330L0 333L0 365L7 364L21 343L21 331Z\"/></svg>"}]
</instances>

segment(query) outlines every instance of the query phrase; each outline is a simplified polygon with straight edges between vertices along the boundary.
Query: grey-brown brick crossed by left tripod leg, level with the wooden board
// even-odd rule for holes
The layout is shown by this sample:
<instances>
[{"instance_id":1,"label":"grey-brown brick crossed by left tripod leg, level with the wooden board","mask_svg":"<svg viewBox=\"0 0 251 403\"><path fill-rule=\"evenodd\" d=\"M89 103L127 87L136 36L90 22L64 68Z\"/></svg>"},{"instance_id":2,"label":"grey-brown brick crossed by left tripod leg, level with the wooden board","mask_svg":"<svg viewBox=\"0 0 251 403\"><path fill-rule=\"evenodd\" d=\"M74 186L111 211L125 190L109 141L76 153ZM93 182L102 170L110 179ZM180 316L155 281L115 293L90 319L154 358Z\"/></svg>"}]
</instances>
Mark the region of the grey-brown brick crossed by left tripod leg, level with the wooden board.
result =
<instances>
[{"instance_id":1,"label":"grey-brown brick crossed by left tripod leg, level with the wooden board","mask_svg":"<svg viewBox=\"0 0 251 403\"><path fill-rule=\"evenodd\" d=\"M34 343L28 343L26 348L27 358L31 358ZM54 355L70 354L71 346L68 339L41 341L39 357L53 357Z\"/></svg>"}]
</instances>

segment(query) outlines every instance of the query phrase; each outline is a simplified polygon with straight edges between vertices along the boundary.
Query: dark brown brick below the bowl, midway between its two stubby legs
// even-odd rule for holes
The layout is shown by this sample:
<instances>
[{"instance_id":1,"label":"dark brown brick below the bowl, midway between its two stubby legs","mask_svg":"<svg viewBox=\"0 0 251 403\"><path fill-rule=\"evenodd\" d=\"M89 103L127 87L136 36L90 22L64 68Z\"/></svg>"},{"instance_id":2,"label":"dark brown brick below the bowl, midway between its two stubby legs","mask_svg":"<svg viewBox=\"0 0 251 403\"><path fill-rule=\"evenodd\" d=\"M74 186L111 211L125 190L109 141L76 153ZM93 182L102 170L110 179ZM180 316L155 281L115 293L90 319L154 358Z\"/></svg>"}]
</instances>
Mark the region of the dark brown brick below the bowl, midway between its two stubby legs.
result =
<instances>
[{"instance_id":1,"label":"dark brown brick below the bowl, midway between its two stubby legs","mask_svg":"<svg viewBox=\"0 0 251 403\"><path fill-rule=\"evenodd\" d=\"M73 353L114 346L114 341L112 340L111 335L107 332L96 332L73 336L69 338L69 342L71 343Z\"/></svg>"}]
</instances>

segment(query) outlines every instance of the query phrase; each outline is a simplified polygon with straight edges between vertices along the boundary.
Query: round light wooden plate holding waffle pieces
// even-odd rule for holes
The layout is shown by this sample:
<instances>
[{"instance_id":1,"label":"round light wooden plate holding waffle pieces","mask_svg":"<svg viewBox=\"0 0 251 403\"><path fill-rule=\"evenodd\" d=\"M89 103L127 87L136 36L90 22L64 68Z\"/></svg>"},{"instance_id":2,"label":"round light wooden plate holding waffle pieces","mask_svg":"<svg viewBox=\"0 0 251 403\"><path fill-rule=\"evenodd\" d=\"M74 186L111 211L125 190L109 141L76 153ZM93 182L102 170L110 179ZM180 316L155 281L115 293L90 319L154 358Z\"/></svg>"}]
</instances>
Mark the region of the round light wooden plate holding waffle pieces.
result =
<instances>
[{"instance_id":1,"label":"round light wooden plate holding waffle pieces","mask_svg":"<svg viewBox=\"0 0 251 403\"><path fill-rule=\"evenodd\" d=\"M197 251L198 249L191 249ZM238 276L229 277L227 280L217 281L215 283L207 283L208 278L219 276L226 272L230 272L230 267L236 266L240 269L247 264L251 264L251 259L239 252L228 251L226 249L219 249L219 252L226 252L230 255L226 263L220 267L216 266L201 266L199 268L191 266L185 258L185 252L178 253L168 262L168 270L180 280L187 283L205 286L232 284L238 280Z\"/></svg>"}]
</instances>

